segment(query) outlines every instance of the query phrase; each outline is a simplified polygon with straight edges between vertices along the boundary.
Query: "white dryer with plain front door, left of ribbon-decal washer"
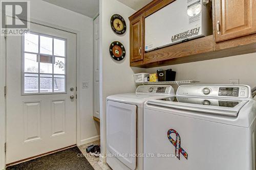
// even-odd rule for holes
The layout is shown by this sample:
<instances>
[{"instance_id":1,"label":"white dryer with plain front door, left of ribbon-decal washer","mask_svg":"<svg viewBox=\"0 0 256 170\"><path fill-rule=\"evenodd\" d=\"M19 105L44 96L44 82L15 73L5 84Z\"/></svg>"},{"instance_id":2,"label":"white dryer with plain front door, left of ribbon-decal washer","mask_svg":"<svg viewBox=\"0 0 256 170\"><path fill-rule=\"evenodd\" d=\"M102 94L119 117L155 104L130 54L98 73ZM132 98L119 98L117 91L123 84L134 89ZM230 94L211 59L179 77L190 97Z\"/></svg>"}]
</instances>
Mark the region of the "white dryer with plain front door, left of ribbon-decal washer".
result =
<instances>
[{"instance_id":1,"label":"white dryer with plain front door, left of ribbon-decal washer","mask_svg":"<svg viewBox=\"0 0 256 170\"><path fill-rule=\"evenodd\" d=\"M107 98L106 162L112 169L143 169L144 103L174 95L172 86L139 86Z\"/></svg>"}]
</instances>

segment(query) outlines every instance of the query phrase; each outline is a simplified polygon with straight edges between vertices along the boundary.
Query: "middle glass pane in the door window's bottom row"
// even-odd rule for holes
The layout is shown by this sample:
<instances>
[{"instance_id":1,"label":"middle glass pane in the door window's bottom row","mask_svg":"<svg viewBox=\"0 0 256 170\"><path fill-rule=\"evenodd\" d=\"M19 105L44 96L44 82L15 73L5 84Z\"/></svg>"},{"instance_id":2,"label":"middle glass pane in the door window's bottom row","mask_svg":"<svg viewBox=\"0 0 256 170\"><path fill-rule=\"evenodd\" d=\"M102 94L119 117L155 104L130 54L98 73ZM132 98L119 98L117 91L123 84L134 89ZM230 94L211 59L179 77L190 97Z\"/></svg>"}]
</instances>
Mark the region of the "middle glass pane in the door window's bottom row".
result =
<instances>
[{"instance_id":1,"label":"middle glass pane in the door window's bottom row","mask_svg":"<svg viewBox=\"0 0 256 170\"><path fill-rule=\"evenodd\" d=\"M40 93L52 91L52 75L40 75Z\"/></svg>"}]
</instances>

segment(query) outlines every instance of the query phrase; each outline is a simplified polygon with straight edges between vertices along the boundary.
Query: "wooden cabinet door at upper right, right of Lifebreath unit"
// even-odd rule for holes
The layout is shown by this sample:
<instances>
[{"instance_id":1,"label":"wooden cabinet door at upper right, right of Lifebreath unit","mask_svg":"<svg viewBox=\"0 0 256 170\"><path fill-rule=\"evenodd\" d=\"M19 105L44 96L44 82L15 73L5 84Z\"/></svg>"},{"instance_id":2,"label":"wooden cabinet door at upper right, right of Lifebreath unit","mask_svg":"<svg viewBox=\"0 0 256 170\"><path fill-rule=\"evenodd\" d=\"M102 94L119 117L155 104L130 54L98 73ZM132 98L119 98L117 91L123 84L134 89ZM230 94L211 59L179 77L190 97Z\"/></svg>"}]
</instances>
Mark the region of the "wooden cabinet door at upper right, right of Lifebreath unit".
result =
<instances>
[{"instance_id":1,"label":"wooden cabinet door at upper right, right of Lifebreath unit","mask_svg":"<svg viewBox=\"0 0 256 170\"><path fill-rule=\"evenodd\" d=\"M224 41L256 32L256 1L216 0L215 37Z\"/></svg>"}]
</instances>

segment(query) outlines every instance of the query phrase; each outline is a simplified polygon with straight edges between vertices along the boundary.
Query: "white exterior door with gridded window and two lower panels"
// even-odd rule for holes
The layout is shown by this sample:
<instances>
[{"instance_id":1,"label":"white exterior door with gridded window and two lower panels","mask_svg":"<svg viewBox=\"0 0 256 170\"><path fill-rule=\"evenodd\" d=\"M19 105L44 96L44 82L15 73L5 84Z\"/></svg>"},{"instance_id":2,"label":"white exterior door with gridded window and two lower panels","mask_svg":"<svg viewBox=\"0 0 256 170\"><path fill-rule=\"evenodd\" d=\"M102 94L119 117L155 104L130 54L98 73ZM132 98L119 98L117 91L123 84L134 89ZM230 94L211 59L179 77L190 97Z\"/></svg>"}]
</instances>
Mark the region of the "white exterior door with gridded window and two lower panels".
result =
<instances>
[{"instance_id":1,"label":"white exterior door with gridded window and two lower panels","mask_svg":"<svg viewBox=\"0 0 256 170\"><path fill-rule=\"evenodd\" d=\"M75 144L76 35L31 23L6 51L6 163Z\"/></svg>"}]
</instances>

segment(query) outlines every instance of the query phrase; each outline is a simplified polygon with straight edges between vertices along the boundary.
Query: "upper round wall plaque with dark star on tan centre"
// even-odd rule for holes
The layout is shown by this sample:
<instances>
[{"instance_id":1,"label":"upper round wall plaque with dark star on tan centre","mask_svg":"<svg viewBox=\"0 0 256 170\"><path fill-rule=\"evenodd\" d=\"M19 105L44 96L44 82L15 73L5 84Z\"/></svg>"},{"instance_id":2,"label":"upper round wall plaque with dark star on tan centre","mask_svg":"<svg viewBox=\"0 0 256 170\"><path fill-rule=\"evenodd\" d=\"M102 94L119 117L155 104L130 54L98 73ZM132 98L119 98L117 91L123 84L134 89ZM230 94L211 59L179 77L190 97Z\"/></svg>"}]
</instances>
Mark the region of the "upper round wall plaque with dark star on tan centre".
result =
<instances>
[{"instance_id":1,"label":"upper round wall plaque with dark star on tan centre","mask_svg":"<svg viewBox=\"0 0 256 170\"><path fill-rule=\"evenodd\" d=\"M114 14L110 19L112 30L119 35L122 35L126 31L126 23L121 15Z\"/></svg>"}]
</instances>

